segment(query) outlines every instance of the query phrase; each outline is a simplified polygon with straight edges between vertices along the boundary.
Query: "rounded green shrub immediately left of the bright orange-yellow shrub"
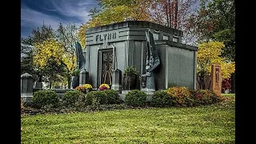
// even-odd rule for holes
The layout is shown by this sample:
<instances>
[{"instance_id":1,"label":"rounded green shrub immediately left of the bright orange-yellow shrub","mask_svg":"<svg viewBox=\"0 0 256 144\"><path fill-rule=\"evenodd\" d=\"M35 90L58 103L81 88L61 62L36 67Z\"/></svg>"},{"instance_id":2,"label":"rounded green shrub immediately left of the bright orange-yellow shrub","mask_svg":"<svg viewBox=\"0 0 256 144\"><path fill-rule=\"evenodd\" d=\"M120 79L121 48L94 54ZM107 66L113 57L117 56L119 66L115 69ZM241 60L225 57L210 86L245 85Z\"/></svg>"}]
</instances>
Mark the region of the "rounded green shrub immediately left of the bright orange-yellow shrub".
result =
<instances>
[{"instance_id":1,"label":"rounded green shrub immediately left of the bright orange-yellow shrub","mask_svg":"<svg viewBox=\"0 0 256 144\"><path fill-rule=\"evenodd\" d=\"M171 107L173 105L172 97L165 91L156 91L152 95L151 106L153 107Z\"/></svg>"}]
</instances>

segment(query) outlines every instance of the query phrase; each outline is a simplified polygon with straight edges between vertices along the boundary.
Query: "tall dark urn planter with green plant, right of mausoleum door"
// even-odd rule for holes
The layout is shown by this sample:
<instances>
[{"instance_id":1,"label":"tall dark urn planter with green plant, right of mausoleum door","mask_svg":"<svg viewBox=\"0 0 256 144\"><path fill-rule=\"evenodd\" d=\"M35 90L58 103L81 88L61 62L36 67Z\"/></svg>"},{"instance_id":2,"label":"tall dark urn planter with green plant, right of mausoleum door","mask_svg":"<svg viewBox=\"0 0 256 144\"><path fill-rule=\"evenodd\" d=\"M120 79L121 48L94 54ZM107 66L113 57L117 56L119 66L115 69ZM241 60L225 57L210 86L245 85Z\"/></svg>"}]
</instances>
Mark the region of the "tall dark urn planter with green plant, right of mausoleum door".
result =
<instances>
[{"instance_id":1,"label":"tall dark urn planter with green plant, right of mausoleum door","mask_svg":"<svg viewBox=\"0 0 256 144\"><path fill-rule=\"evenodd\" d=\"M129 66L124 70L125 90L134 90L137 83L138 70L134 66Z\"/></svg>"}]
</instances>

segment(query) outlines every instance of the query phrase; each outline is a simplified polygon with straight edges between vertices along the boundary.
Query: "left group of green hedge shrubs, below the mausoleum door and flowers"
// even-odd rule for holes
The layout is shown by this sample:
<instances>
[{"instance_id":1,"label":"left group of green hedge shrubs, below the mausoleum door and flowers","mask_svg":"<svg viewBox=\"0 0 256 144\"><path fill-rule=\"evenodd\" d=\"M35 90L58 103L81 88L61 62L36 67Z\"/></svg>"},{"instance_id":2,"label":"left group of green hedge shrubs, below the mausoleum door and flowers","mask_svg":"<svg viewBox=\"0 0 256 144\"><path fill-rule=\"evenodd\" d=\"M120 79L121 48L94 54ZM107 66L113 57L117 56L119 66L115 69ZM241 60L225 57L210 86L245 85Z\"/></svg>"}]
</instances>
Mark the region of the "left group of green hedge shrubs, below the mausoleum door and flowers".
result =
<instances>
[{"instance_id":1,"label":"left group of green hedge shrubs, below the mausoleum door and flowers","mask_svg":"<svg viewBox=\"0 0 256 144\"><path fill-rule=\"evenodd\" d=\"M34 93L32 106L35 108L76 107L88 105L119 104L119 94L115 90L91 91L87 94L79 90L67 91L60 100L58 94L50 90L40 90Z\"/></svg>"}]
</instances>

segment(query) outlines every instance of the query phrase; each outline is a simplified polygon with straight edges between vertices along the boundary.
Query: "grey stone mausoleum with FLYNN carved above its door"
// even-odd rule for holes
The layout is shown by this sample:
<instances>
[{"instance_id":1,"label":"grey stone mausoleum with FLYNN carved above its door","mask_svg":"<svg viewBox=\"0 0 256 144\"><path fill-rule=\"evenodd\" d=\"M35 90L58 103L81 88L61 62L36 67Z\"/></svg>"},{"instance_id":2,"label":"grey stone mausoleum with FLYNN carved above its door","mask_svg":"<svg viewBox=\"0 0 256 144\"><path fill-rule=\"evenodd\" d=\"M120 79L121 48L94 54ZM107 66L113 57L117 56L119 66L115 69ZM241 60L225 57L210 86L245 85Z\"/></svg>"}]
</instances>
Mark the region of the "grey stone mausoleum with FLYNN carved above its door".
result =
<instances>
[{"instance_id":1,"label":"grey stone mausoleum with FLYNN carved above its door","mask_svg":"<svg viewBox=\"0 0 256 144\"><path fill-rule=\"evenodd\" d=\"M148 42L150 35L153 43ZM113 81L117 78L122 82L119 88L124 89L124 76L113 76L113 70L118 69L123 74L126 67L134 66L139 71L137 89L143 89L141 76L147 73L148 61L156 58L159 62L150 72L155 90L174 85L195 89L198 48L182 44L182 35L180 30L148 21L124 21L88 28L84 52L85 70L89 73L87 82L93 88L102 83L115 86ZM155 49L155 56L154 51L150 55L150 46Z\"/></svg>"}]
</instances>

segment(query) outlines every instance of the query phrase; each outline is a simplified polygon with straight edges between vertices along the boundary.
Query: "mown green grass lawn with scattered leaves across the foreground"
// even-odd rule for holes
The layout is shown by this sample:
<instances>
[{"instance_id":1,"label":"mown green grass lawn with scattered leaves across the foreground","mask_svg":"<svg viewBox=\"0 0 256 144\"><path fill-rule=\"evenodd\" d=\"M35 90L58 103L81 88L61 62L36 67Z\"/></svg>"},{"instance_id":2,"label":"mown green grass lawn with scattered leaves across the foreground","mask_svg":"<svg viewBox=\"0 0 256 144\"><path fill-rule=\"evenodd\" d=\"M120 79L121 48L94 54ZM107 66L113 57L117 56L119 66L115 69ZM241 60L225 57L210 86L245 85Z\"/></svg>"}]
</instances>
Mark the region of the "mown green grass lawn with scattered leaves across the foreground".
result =
<instances>
[{"instance_id":1,"label":"mown green grass lawn with scattered leaves across the foreground","mask_svg":"<svg viewBox=\"0 0 256 144\"><path fill-rule=\"evenodd\" d=\"M235 143L235 95L211 106L22 116L21 143Z\"/></svg>"}]
</instances>

